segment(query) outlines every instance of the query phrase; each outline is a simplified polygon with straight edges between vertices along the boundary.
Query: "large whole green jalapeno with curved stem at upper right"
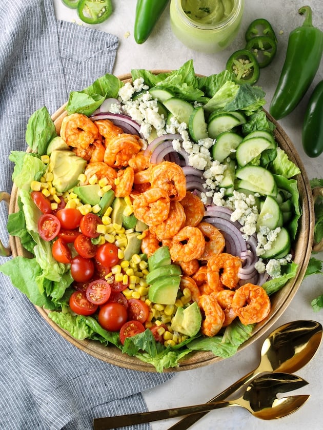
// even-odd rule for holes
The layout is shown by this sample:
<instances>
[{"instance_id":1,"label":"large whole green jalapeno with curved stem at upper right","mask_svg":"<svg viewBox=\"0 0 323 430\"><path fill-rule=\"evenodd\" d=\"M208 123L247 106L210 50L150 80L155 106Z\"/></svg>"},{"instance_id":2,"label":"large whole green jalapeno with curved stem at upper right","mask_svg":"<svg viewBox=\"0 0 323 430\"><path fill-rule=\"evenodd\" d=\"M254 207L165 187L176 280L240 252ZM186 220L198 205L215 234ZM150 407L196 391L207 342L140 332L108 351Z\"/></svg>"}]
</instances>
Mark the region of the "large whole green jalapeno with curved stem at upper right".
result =
<instances>
[{"instance_id":1,"label":"large whole green jalapeno with curved stem at upper right","mask_svg":"<svg viewBox=\"0 0 323 430\"><path fill-rule=\"evenodd\" d=\"M289 35L285 63L269 109L275 119L295 109L309 89L322 57L323 32L312 25L311 8L304 6L298 13L305 14L305 21Z\"/></svg>"}]
</instances>

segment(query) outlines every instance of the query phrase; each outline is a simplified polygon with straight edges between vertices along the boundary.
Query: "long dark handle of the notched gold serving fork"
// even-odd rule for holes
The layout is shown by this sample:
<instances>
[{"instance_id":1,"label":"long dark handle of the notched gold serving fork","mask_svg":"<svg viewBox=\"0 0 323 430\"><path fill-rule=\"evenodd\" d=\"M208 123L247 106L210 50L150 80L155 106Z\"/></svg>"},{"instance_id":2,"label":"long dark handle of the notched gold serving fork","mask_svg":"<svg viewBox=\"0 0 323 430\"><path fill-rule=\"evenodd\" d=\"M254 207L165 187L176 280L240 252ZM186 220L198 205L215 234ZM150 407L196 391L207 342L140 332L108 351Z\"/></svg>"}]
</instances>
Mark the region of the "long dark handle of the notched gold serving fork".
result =
<instances>
[{"instance_id":1,"label":"long dark handle of the notched gold serving fork","mask_svg":"<svg viewBox=\"0 0 323 430\"><path fill-rule=\"evenodd\" d=\"M187 414L208 412L211 409L238 405L234 401L222 401L215 403L203 403L194 406L175 407L172 409L162 409L161 411L142 412L138 414L119 415L116 417L95 418L93 421L94 430L108 430L111 428L125 427L133 424L143 424L145 422L165 420L168 418L180 417Z\"/></svg>"}]
</instances>

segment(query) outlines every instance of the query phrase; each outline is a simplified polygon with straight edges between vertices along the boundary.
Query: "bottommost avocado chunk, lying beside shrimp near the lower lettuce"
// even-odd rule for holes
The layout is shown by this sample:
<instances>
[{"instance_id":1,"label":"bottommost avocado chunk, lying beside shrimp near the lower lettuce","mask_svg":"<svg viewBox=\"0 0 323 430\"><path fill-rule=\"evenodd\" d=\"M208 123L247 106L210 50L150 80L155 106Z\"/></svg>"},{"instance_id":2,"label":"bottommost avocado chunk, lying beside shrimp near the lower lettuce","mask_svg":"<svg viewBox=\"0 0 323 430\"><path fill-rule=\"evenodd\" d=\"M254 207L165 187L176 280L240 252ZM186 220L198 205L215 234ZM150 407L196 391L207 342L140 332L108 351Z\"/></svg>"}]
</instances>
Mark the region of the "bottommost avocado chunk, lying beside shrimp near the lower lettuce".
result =
<instances>
[{"instance_id":1,"label":"bottommost avocado chunk, lying beside shrimp near the lower lettuce","mask_svg":"<svg viewBox=\"0 0 323 430\"><path fill-rule=\"evenodd\" d=\"M195 336L201 326L201 311L196 302L187 308L177 308L176 314L171 323L171 329L186 336Z\"/></svg>"}]
</instances>

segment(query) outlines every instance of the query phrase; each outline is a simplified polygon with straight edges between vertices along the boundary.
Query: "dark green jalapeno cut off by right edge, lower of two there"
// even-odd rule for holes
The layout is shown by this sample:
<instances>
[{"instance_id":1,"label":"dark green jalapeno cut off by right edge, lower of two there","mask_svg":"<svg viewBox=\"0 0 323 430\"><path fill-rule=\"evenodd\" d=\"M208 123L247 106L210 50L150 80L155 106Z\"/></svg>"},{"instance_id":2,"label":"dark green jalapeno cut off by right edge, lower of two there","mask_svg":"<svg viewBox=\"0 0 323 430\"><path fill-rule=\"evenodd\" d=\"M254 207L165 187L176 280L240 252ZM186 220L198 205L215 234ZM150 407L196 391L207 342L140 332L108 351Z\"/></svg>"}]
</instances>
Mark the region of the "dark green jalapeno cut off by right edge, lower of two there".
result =
<instances>
[{"instance_id":1,"label":"dark green jalapeno cut off by right edge, lower of two there","mask_svg":"<svg viewBox=\"0 0 323 430\"><path fill-rule=\"evenodd\" d=\"M314 88L305 110L301 141L309 157L323 152L323 80Z\"/></svg>"}]
</instances>

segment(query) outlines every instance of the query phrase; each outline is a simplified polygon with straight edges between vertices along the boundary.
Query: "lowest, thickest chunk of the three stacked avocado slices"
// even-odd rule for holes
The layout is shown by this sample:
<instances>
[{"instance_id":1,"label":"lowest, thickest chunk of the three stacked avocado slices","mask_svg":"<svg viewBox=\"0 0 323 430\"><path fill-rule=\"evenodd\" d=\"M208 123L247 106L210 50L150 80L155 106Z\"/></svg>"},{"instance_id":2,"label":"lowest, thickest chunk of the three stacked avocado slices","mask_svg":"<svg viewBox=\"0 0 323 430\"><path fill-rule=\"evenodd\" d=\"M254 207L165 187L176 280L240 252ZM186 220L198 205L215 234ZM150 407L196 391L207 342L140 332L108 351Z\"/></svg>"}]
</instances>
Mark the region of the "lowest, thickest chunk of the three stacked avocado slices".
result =
<instances>
[{"instance_id":1,"label":"lowest, thickest chunk of the three stacked avocado slices","mask_svg":"<svg viewBox=\"0 0 323 430\"><path fill-rule=\"evenodd\" d=\"M148 298L159 304L175 304L180 276L164 276L149 287Z\"/></svg>"}]
</instances>

